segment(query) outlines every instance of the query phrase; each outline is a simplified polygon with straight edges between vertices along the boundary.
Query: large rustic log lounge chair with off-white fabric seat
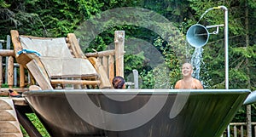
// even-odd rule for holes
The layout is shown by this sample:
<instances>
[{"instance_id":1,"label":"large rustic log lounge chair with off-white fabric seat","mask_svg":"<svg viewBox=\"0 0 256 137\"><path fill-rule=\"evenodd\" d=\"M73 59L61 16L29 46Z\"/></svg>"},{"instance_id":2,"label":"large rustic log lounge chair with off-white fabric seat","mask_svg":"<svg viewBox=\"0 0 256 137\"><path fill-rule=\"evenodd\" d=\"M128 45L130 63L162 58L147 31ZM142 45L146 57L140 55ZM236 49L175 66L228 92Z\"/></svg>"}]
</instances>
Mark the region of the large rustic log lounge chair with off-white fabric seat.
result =
<instances>
[{"instance_id":1,"label":"large rustic log lounge chair with off-white fabric seat","mask_svg":"<svg viewBox=\"0 0 256 137\"><path fill-rule=\"evenodd\" d=\"M73 33L51 38L23 36L12 30L11 37L17 62L29 70L40 88L111 88L102 65L83 54Z\"/></svg>"}]
</instances>

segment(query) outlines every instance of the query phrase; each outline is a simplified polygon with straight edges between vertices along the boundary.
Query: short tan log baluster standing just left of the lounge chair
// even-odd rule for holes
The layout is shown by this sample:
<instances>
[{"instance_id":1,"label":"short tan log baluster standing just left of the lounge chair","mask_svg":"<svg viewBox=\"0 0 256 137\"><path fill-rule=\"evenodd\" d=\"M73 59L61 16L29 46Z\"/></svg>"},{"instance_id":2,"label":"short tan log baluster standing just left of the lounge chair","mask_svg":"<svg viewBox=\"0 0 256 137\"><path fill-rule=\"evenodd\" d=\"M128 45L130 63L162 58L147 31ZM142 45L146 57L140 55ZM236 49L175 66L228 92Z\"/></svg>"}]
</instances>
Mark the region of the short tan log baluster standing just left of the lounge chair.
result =
<instances>
[{"instance_id":1,"label":"short tan log baluster standing just left of the lounge chair","mask_svg":"<svg viewBox=\"0 0 256 137\"><path fill-rule=\"evenodd\" d=\"M14 57L9 56L8 59L8 85L9 88L14 86Z\"/></svg>"}]
</instances>

